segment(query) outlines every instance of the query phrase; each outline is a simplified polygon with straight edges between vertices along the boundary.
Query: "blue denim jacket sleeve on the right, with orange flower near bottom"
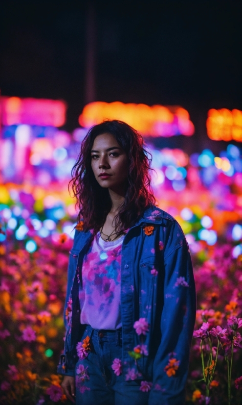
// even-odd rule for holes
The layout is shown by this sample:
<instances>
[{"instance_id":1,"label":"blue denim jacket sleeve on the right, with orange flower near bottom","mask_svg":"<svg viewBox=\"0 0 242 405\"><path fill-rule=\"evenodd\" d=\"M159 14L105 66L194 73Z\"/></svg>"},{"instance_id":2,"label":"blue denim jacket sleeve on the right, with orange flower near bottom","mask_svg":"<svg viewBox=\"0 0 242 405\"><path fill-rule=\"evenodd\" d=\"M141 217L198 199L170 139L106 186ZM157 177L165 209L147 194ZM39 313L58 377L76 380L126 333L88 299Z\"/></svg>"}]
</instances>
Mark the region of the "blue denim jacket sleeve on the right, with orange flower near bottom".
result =
<instances>
[{"instance_id":1,"label":"blue denim jacket sleeve on the right, with orange flower near bottom","mask_svg":"<svg viewBox=\"0 0 242 405\"><path fill-rule=\"evenodd\" d=\"M149 405L185 403L190 345L196 318L196 292L188 245L181 228L178 226L177 229L181 237L164 250L161 342L154 358Z\"/></svg>"}]
</instances>

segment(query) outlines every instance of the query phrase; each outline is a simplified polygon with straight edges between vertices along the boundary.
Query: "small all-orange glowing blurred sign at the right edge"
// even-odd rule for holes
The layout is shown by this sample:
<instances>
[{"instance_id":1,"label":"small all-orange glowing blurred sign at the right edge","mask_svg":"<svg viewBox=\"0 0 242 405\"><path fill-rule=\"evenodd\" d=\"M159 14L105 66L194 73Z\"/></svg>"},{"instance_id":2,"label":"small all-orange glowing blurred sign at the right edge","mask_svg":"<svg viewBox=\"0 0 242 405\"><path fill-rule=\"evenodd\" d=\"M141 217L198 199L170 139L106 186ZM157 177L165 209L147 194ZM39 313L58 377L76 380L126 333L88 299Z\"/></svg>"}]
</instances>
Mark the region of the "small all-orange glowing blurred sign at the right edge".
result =
<instances>
[{"instance_id":1,"label":"small all-orange glowing blurred sign at the right edge","mask_svg":"<svg viewBox=\"0 0 242 405\"><path fill-rule=\"evenodd\" d=\"M208 111L207 134L214 141L242 142L242 111L212 108Z\"/></svg>"}]
</instances>

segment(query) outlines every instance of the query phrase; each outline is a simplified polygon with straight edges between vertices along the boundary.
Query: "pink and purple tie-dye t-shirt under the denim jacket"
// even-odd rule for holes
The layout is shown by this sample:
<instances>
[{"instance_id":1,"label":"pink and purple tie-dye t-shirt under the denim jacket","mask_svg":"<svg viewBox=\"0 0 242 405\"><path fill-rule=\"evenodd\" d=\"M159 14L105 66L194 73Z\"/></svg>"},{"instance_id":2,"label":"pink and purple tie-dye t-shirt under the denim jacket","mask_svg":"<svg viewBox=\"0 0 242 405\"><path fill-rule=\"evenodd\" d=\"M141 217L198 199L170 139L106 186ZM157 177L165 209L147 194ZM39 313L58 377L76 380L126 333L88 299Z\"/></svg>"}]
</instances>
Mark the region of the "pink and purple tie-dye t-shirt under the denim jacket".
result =
<instances>
[{"instance_id":1,"label":"pink and purple tie-dye t-shirt under the denim jacket","mask_svg":"<svg viewBox=\"0 0 242 405\"><path fill-rule=\"evenodd\" d=\"M93 329L121 328L120 281L121 249L124 235L104 241L100 232L94 237L82 265L79 287L81 324Z\"/></svg>"}]
</instances>

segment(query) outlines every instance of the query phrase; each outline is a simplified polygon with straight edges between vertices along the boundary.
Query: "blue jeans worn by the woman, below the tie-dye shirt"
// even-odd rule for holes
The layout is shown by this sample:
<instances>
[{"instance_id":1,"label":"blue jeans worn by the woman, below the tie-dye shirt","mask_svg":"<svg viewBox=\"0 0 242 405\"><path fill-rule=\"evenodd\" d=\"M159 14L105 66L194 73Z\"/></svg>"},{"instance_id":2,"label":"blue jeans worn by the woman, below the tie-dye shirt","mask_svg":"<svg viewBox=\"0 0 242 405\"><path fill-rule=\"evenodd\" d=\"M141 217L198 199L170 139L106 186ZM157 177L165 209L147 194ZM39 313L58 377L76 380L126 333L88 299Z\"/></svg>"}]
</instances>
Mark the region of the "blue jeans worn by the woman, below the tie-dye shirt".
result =
<instances>
[{"instance_id":1,"label":"blue jeans worn by the woman, below the tie-dye shirt","mask_svg":"<svg viewBox=\"0 0 242 405\"><path fill-rule=\"evenodd\" d=\"M149 393L140 383L124 385L122 374L111 368L115 358L122 359L121 330L98 330L89 325L82 341L90 337L91 350L75 368L76 405L147 405Z\"/></svg>"}]
</instances>

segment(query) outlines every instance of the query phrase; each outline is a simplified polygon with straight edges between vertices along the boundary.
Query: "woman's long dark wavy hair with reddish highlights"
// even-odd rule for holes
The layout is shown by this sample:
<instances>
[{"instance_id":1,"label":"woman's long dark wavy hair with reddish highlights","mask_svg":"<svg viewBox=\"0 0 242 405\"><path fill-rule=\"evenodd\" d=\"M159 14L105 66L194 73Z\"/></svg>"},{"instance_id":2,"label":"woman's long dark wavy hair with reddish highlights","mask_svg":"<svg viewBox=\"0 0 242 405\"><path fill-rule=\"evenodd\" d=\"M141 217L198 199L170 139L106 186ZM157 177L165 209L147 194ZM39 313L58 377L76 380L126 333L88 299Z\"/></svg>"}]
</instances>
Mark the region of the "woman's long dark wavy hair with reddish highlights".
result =
<instances>
[{"instance_id":1,"label":"woman's long dark wavy hair with reddish highlights","mask_svg":"<svg viewBox=\"0 0 242 405\"><path fill-rule=\"evenodd\" d=\"M144 148L143 138L135 129L117 120L91 127L82 141L81 151L71 171L70 184L79 207L78 221L83 219L84 230L93 229L96 233L104 225L112 203L109 190L101 187L94 177L91 149L94 139L107 132L115 137L129 159L125 200L114 218L115 228L121 233L155 202L149 173L152 156Z\"/></svg>"}]
</instances>

